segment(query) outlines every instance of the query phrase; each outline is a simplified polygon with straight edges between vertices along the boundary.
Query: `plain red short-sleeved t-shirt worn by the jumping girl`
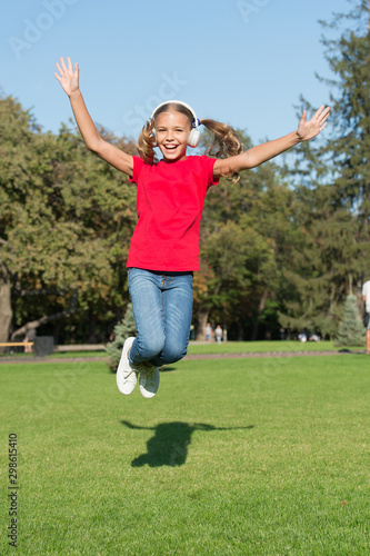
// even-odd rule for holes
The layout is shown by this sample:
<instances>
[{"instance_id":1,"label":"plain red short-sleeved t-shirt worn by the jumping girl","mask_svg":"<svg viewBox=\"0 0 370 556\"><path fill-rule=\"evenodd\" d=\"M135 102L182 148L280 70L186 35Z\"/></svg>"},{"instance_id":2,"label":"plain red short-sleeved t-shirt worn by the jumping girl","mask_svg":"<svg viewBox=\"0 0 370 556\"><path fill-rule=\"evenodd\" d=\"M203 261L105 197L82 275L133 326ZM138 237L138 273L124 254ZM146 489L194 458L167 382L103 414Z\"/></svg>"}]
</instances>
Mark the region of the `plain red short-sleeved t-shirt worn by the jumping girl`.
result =
<instances>
[{"instance_id":1,"label":"plain red short-sleeved t-shirt worn by the jumping girl","mask_svg":"<svg viewBox=\"0 0 370 556\"><path fill-rule=\"evenodd\" d=\"M187 157L150 166L133 157L138 224L128 267L199 270L199 226L206 193L216 185L216 158Z\"/></svg>"}]
</instances>

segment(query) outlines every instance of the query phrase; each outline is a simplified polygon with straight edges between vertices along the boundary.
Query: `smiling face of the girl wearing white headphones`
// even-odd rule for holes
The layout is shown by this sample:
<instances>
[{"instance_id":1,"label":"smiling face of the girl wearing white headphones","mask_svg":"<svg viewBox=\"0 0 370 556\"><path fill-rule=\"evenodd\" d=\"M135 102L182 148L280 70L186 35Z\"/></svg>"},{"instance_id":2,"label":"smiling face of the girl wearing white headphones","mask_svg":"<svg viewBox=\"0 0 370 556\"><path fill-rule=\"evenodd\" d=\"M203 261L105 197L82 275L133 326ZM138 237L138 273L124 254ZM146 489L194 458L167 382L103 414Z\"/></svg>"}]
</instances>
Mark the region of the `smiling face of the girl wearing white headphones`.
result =
<instances>
[{"instance_id":1,"label":"smiling face of the girl wearing white headphones","mask_svg":"<svg viewBox=\"0 0 370 556\"><path fill-rule=\"evenodd\" d=\"M186 158L190 131L189 119L181 112L161 112L157 116L157 145L166 162L176 162Z\"/></svg>"}]
</instances>

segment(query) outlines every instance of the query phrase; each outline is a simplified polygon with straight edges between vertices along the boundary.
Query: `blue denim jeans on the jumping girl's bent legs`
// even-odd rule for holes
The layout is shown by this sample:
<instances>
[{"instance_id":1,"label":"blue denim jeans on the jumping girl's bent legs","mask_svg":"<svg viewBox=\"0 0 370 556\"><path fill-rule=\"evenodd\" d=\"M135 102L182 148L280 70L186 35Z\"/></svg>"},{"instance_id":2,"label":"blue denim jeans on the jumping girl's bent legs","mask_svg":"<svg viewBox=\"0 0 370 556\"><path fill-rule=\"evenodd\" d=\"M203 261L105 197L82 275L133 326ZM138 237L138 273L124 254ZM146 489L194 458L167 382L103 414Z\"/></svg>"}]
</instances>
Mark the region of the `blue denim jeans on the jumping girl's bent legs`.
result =
<instances>
[{"instance_id":1,"label":"blue denim jeans on the jumping girl's bent legs","mask_svg":"<svg viewBox=\"0 0 370 556\"><path fill-rule=\"evenodd\" d=\"M192 272L153 272L129 268L137 338L129 360L154 367L187 355L192 314Z\"/></svg>"}]
</instances>

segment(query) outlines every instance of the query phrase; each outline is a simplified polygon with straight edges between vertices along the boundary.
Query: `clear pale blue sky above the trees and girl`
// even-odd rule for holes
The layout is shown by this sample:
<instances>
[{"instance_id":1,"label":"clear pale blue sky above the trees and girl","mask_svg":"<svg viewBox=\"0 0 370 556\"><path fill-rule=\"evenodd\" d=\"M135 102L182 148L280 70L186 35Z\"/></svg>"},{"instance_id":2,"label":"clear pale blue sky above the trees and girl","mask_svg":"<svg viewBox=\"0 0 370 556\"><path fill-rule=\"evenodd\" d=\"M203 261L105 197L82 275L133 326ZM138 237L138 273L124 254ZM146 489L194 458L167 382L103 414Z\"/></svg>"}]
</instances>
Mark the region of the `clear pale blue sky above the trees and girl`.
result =
<instances>
[{"instance_id":1,"label":"clear pale blue sky above the trees and girl","mask_svg":"<svg viewBox=\"0 0 370 556\"><path fill-rule=\"evenodd\" d=\"M96 122L137 138L163 100L247 130L253 142L297 127L303 96L329 102L319 19L348 0L18 0L2 7L0 86L44 130L71 117L53 77L60 56L80 66Z\"/></svg>"}]
</instances>

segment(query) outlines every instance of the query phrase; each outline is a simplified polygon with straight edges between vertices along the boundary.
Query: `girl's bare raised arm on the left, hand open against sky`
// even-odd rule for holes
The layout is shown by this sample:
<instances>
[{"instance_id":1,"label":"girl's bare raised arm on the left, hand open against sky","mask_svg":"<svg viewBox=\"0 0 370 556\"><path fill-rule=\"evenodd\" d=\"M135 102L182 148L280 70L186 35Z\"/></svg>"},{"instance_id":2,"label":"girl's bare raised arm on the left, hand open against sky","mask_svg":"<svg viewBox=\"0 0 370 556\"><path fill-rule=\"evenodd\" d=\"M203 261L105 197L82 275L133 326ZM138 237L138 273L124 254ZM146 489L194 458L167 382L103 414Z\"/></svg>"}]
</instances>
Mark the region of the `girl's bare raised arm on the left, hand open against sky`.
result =
<instances>
[{"instance_id":1,"label":"girl's bare raised arm on the left, hand open against sky","mask_svg":"<svg viewBox=\"0 0 370 556\"><path fill-rule=\"evenodd\" d=\"M76 122L81 131L86 146L89 150L98 155L111 166L122 172L132 176L133 158L131 155L123 152L108 141L104 141L84 105L82 93L79 88L79 67L78 63L72 66L71 59L67 58L67 64L63 58L60 59L60 64L57 63L59 73L54 73L56 78L62 86L64 92L69 96Z\"/></svg>"}]
</instances>

